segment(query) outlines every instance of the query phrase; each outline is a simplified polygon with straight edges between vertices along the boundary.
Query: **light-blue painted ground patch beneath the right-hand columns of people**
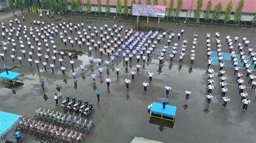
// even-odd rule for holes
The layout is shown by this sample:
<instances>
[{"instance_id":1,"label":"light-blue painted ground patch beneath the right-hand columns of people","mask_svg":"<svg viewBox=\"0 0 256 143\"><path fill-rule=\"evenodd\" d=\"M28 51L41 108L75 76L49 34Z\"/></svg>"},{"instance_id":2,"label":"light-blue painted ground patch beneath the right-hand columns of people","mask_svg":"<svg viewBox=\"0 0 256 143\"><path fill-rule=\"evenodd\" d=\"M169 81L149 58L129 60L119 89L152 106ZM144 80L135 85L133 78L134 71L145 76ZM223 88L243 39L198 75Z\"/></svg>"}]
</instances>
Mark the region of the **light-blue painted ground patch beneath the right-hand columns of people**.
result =
<instances>
[{"instance_id":1,"label":"light-blue painted ground patch beneath the right-hand columns of people","mask_svg":"<svg viewBox=\"0 0 256 143\"><path fill-rule=\"evenodd\" d=\"M219 60L218 60L218 53L211 51L210 58L212 59L212 65L219 65ZM225 66L227 67L233 67L233 62L231 61L231 53L223 53L223 62L225 63ZM254 70L254 65L252 65L252 60L250 60L250 56L246 55L245 58L248 60L248 63L251 64L250 69ZM241 62L240 60L240 55L237 55L238 59L238 67L241 69L245 69L243 67L244 63Z\"/></svg>"}]
</instances>

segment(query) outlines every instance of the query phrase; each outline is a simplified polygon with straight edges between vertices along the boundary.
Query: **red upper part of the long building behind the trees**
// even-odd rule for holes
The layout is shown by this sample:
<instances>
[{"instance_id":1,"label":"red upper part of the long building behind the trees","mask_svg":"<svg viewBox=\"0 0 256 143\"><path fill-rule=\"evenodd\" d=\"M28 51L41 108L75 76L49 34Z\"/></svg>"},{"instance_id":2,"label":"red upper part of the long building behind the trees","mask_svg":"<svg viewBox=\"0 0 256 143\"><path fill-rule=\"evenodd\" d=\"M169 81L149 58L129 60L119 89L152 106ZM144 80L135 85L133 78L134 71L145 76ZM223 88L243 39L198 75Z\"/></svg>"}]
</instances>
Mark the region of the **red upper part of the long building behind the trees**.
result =
<instances>
[{"instance_id":1,"label":"red upper part of the long building behind the trees","mask_svg":"<svg viewBox=\"0 0 256 143\"><path fill-rule=\"evenodd\" d=\"M69 3L72 0L67 0ZM102 5L106 5L106 0L101 0L102 1ZM128 6L131 5L131 1L132 0L128 0ZM139 0L136 0L136 3L138 3ZM116 5L117 0L110 0L110 5ZM122 5L124 5L124 0L121 0ZM146 0L141 0L142 4L146 4ZM193 2L193 4L192 4ZM208 0L203 0L203 6L202 6L202 10L206 9L206 5L207 5ZM228 4L228 0L212 0L212 9L214 9L214 6L218 3L222 3L223 4L223 11L225 11L226 5ZM235 8L239 2L239 0L232 0L233 2L233 9L232 12L235 11ZM86 0L82 0L82 3L86 4ZM97 0L91 0L91 4L98 4ZM153 0L151 0L151 4L153 4ZM192 8L191 8L191 4L192 4ZM163 5L163 1L159 0L158 1L158 5ZM173 7L174 9L176 8L177 5L177 0L174 0L174 4ZM244 1L244 9L242 9L242 12L248 12L248 13L256 13L256 0L245 0ZM169 0L167 0L167 5L166 8L169 8ZM197 8L197 0L183 0L183 9L184 10L196 10Z\"/></svg>"}]
</instances>

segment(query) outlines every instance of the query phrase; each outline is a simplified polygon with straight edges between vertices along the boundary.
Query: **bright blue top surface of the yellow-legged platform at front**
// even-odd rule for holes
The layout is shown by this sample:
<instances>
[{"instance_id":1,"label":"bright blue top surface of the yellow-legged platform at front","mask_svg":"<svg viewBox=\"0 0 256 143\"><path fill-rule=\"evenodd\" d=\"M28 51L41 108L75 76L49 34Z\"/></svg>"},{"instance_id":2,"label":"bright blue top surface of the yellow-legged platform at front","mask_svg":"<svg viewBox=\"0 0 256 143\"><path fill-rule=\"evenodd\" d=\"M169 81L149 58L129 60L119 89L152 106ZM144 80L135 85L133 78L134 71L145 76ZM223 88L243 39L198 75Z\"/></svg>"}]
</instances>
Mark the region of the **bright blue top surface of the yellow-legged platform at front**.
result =
<instances>
[{"instance_id":1,"label":"bright blue top surface of the yellow-legged platform at front","mask_svg":"<svg viewBox=\"0 0 256 143\"><path fill-rule=\"evenodd\" d=\"M158 115L164 115L164 116L168 116L168 117L175 117L176 116L176 110L177 110L177 106L166 105L165 110L164 110L162 103L153 102L150 112L153 112L153 113L158 114Z\"/></svg>"}]
</instances>

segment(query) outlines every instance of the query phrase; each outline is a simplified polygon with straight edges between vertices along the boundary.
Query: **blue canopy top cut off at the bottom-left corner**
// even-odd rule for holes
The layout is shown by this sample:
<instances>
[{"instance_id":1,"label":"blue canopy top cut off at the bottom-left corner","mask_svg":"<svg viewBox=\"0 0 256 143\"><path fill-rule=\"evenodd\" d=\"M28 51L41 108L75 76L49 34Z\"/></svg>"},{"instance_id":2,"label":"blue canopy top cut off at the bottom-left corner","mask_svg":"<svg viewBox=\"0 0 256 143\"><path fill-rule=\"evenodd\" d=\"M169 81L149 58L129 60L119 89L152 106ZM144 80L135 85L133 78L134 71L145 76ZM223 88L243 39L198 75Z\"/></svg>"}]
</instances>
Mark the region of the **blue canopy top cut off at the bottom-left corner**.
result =
<instances>
[{"instance_id":1,"label":"blue canopy top cut off at the bottom-left corner","mask_svg":"<svg viewBox=\"0 0 256 143\"><path fill-rule=\"evenodd\" d=\"M4 137L17 123L21 115L0 111L0 138Z\"/></svg>"}]
</instances>

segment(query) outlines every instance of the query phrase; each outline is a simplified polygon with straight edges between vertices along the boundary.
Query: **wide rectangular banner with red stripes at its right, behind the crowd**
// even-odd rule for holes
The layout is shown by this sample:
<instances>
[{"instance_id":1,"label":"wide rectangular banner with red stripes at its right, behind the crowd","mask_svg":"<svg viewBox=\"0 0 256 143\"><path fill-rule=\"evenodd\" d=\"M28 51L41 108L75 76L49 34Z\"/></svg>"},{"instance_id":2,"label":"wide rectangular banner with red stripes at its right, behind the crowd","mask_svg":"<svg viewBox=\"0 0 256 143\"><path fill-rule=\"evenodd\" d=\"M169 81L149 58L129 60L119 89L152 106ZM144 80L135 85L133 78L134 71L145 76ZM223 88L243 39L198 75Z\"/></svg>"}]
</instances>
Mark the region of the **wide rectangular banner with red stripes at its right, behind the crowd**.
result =
<instances>
[{"instance_id":1,"label":"wide rectangular banner with red stripes at its right, behind the crowd","mask_svg":"<svg viewBox=\"0 0 256 143\"><path fill-rule=\"evenodd\" d=\"M165 17L166 7L163 5L133 4L133 16Z\"/></svg>"}]
</instances>

